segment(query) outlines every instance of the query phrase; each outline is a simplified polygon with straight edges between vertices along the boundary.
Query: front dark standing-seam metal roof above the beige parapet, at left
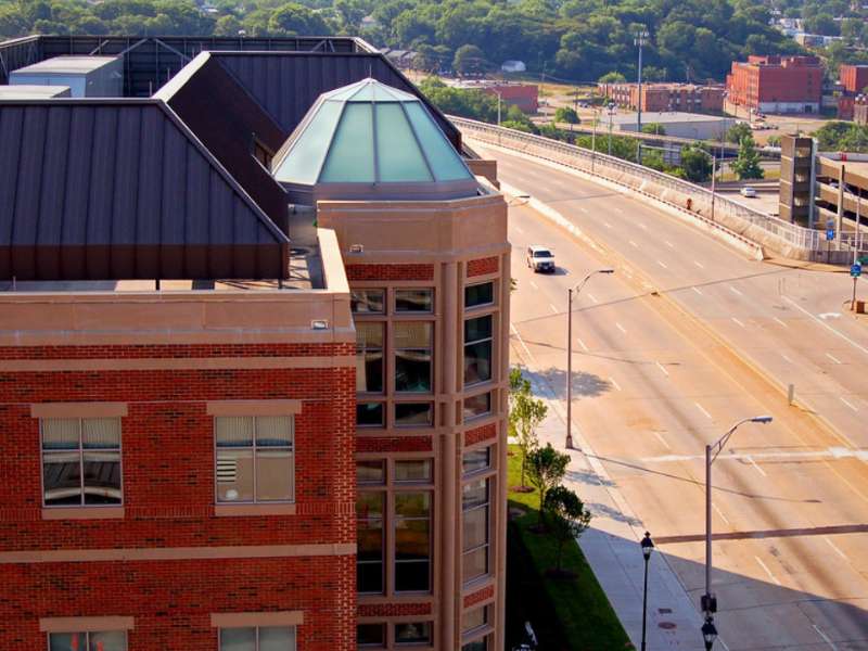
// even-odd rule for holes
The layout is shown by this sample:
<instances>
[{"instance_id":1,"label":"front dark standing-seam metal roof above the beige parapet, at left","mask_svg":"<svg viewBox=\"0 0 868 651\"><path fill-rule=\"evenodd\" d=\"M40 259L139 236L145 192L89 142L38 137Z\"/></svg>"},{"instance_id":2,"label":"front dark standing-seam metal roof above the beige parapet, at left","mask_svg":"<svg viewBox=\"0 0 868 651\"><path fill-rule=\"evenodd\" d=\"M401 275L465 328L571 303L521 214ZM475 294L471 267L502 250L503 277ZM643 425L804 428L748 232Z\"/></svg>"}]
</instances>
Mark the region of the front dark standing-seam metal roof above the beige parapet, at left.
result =
<instances>
[{"instance_id":1,"label":"front dark standing-seam metal roof above the beige parapet, at left","mask_svg":"<svg viewBox=\"0 0 868 651\"><path fill-rule=\"evenodd\" d=\"M283 278L289 240L157 100L0 103L0 278Z\"/></svg>"}]
</instances>

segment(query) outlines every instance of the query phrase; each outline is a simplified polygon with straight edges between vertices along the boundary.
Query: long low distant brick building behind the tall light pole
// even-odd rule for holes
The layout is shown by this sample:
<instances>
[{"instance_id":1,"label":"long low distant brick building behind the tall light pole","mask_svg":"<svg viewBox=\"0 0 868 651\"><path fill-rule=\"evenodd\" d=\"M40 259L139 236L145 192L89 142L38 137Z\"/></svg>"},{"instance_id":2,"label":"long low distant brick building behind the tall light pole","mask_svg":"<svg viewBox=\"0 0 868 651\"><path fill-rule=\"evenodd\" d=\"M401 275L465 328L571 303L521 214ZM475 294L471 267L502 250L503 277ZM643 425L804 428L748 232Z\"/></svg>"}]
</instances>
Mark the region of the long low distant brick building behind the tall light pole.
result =
<instances>
[{"instance_id":1,"label":"long low distant brick building behind the tall light pole","mask_svg":"<svg viewBox=\"0 0 868 651\"><path fill-rule=\"evenodd\" d=\"M618 106L636 111L639 107L637 84L600 84L600 91ZM643 84L643 112L719 113L724 108L723 86L695 84Z\"/></svg>"}]
</instances>

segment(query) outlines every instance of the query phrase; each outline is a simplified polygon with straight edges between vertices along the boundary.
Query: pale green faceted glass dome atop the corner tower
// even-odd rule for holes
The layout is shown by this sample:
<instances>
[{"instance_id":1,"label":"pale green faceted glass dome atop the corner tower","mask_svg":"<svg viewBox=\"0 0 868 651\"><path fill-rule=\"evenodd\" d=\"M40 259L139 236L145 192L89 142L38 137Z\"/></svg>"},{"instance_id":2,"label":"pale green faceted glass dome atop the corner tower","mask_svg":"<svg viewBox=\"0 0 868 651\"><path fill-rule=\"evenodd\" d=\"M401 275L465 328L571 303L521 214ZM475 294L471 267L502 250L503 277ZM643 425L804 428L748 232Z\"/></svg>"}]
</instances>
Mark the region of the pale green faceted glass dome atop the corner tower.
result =
<instances>
[{"instance_id":1,"label":"pale green faceted glass dome atop the corner tower","mask_svg":"<svg viewBox=\"0 0 868 651\"><path fill-rule=\"evenodd\" d=\"M476 181L422 101L375 79L323 93L272 165L317 197L469 196Z\"/></svg>"}]
</instances>

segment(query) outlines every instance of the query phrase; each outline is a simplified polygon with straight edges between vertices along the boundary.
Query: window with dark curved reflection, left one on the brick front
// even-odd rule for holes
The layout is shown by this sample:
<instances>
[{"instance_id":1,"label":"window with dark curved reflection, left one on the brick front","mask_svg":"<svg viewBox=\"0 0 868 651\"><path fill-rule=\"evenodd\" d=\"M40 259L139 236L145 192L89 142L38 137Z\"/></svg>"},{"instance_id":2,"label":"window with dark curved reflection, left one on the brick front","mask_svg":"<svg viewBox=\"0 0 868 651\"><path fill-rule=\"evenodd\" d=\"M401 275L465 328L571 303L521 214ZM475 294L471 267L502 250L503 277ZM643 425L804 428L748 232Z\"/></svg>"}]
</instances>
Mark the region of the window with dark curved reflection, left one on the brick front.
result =
<instances>
[{"instance_id":1,"label":"window with dark curved reflection, left one on the brick front","mask_svg":"<svg viewBox=\"0 0 868 651\"><path fill-rule=\"evenodd\" d=\"M122 503L119 418L43 418L40 430L44 506Z\"/></svg>"}]
</instances>

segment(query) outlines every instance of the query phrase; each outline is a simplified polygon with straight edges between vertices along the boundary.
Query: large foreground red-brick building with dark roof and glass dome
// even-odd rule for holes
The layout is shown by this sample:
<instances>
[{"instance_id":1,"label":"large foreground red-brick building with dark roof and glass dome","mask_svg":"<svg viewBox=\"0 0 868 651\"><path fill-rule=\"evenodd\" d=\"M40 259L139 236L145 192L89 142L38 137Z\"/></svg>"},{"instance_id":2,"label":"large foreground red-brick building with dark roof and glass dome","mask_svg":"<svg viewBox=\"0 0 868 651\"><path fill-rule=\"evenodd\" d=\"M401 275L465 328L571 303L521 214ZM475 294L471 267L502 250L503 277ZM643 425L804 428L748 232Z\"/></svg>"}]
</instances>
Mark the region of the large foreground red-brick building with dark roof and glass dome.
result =
<instances>
[{"instance_id":1,"label":"large foreground red-brick building with dark roof and glass dome","mask_svg":"<svg viewBox=\"0 0 868 651\"><path fill-rule=\"evenodd\" d=\"M502 648L507 208L459 152L363 51L0 102L0 641Z\"/></svg>"}]
</instances>

